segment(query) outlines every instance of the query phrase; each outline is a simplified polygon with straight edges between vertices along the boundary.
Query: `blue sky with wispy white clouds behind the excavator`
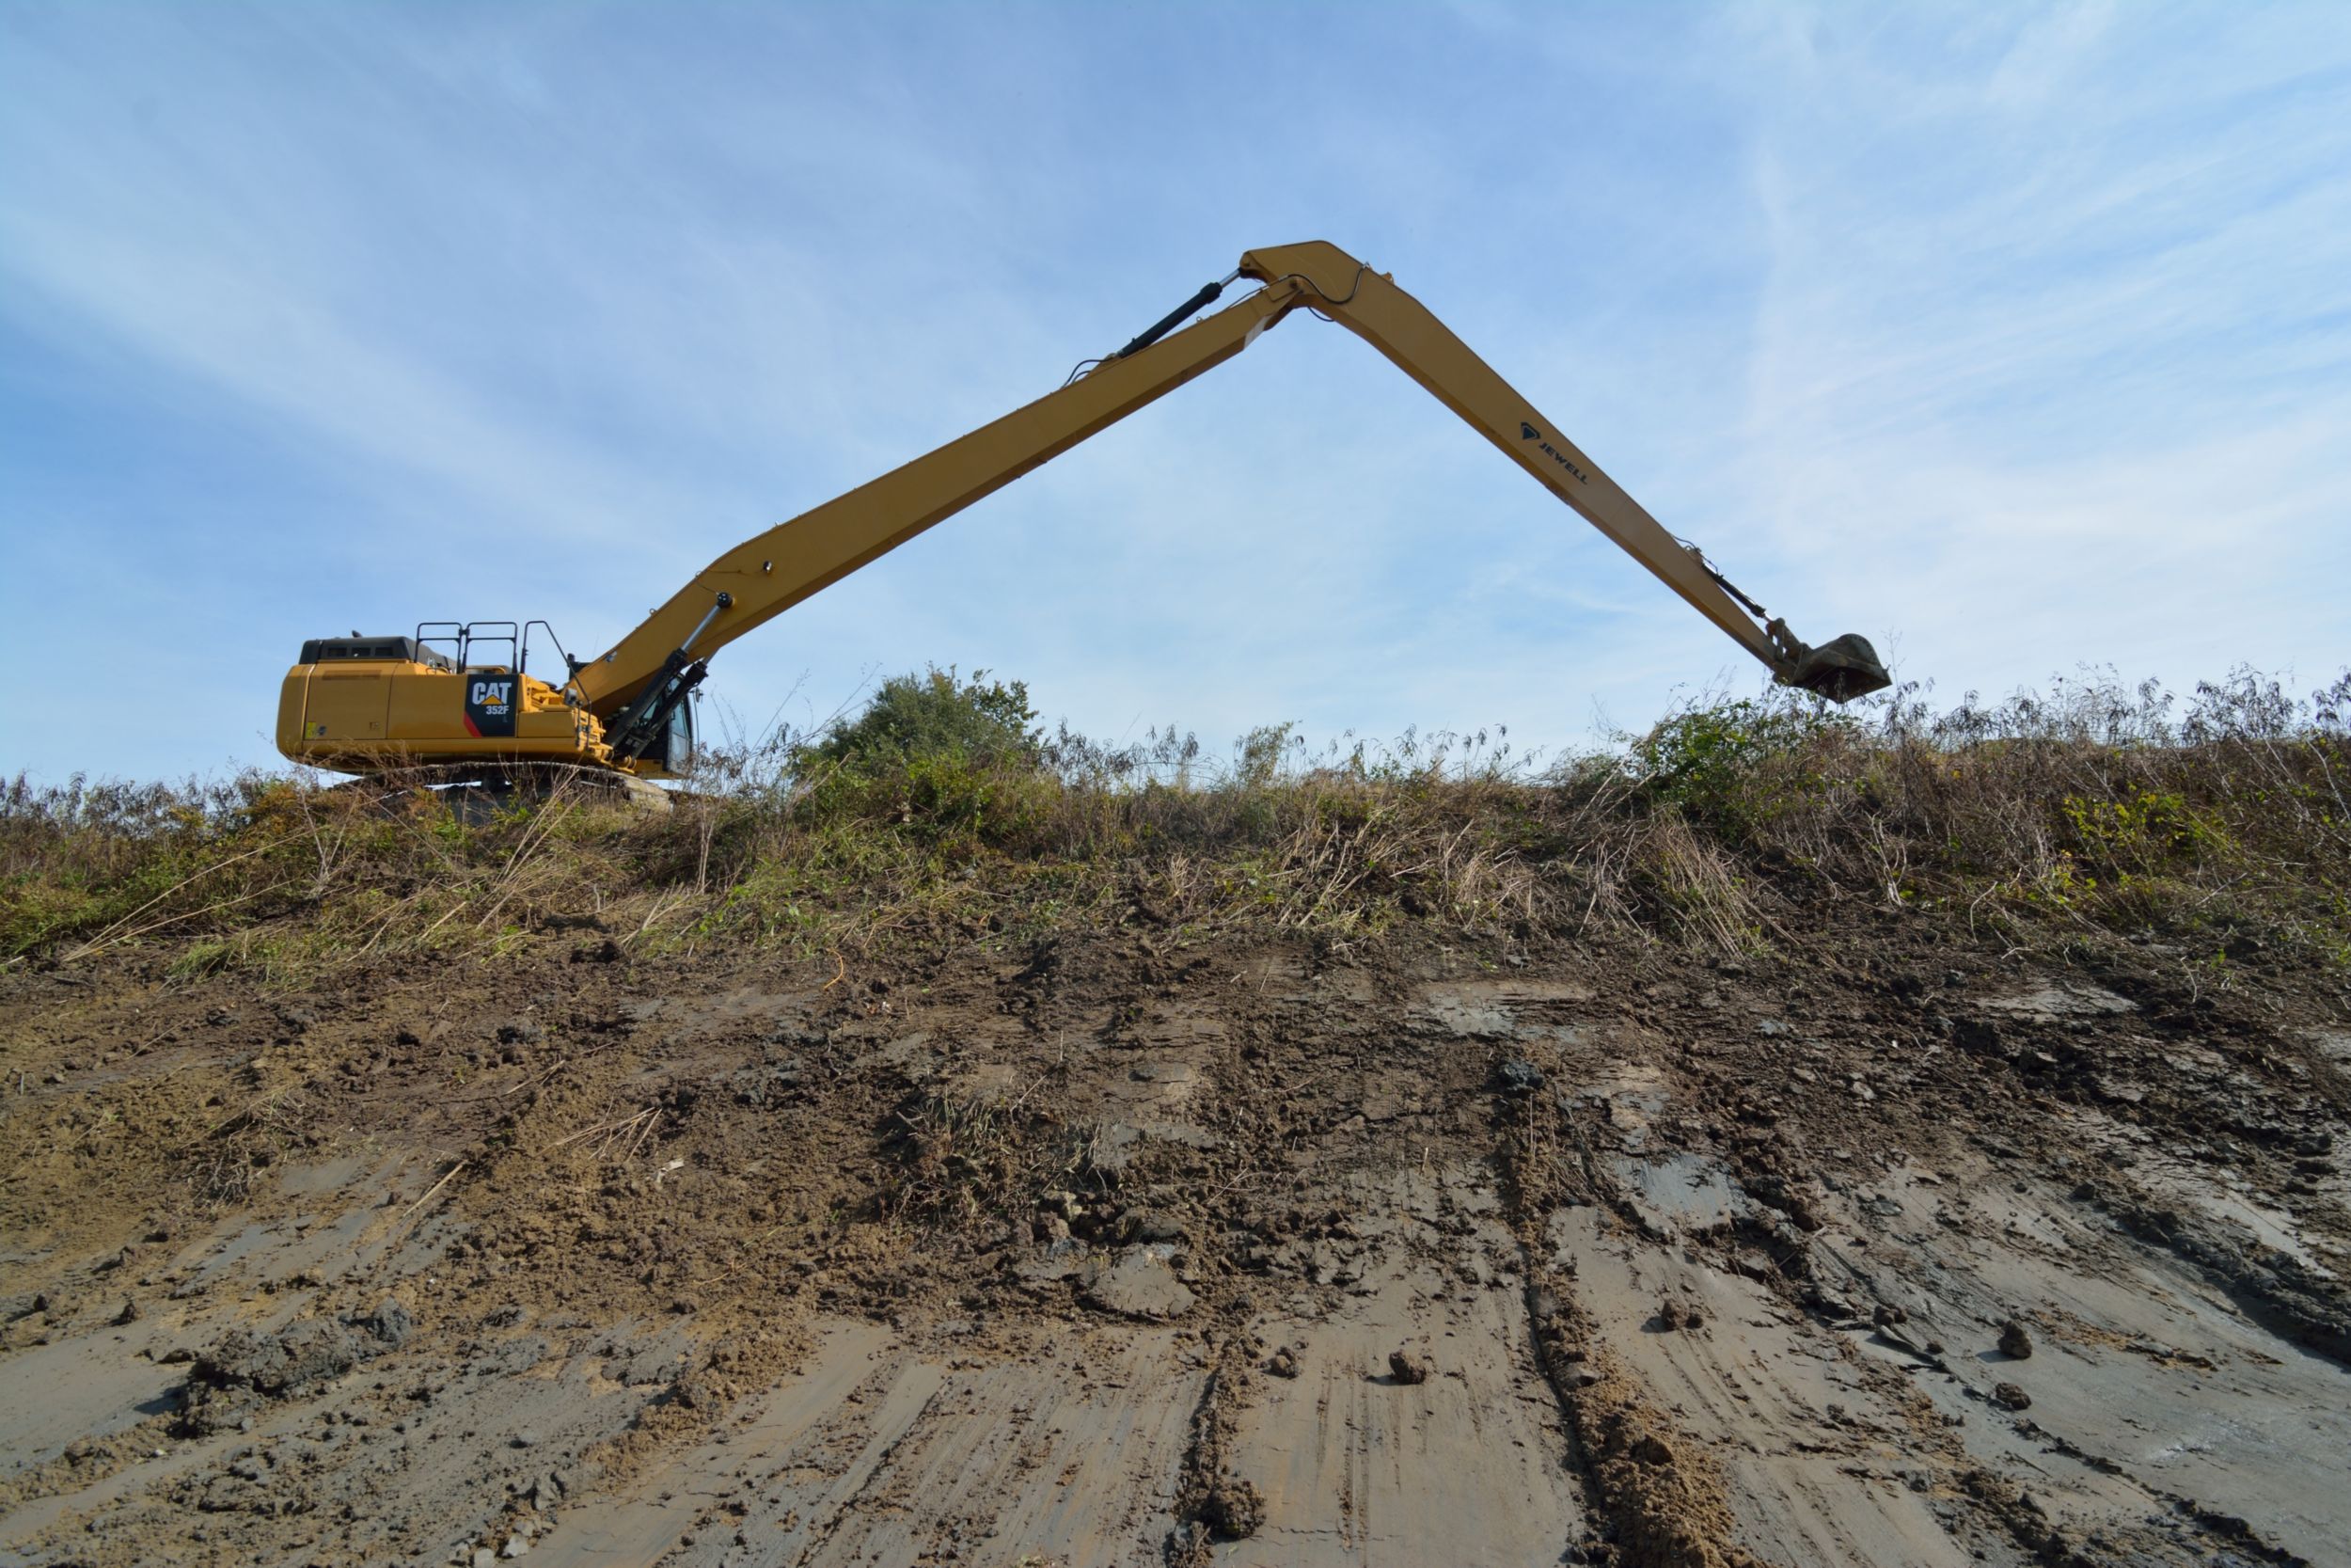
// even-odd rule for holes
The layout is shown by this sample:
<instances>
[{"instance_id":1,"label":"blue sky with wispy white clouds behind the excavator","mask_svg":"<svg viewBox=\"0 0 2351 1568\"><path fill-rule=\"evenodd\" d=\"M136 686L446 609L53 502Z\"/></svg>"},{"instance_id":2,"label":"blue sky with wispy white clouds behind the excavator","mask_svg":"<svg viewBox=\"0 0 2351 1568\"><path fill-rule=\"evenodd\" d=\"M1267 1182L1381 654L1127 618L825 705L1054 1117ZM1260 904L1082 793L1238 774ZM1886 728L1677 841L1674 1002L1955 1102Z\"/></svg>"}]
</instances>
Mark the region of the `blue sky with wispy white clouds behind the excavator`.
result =
<instances>
[{"instance_id":1,"label":"blue sky with wispy white clouds behind the excavator","mask_svg":"<svg viewBox=\"0 0 2351 1568\"><path fill-rule=\"evenodd\" d=\"M2306 689L2346 172L2337 5L0 5L0 769L270 762L313 635L604 646L1307 237L1815 642ZM922 663L1211 748L1759 684L1310 317L729 646L712 717Z\"/></svg>"}]
</instances>

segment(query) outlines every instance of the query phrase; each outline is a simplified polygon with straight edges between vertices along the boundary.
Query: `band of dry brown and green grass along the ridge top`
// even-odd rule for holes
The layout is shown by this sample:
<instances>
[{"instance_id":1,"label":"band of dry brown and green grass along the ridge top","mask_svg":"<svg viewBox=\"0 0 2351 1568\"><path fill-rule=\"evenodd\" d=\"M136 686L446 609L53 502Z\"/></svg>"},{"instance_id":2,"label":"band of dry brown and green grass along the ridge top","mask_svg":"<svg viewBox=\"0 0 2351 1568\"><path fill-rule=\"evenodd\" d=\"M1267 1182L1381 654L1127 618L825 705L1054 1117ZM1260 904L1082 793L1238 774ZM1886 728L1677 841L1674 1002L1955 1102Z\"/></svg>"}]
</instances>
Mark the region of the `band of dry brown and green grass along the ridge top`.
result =
<instances>
[{"instance_id":1,"label":"band of dry brown and green grass along the ridge top","mask_svg":"<svg viewBox=\"0 0 2351 1568\"><path fill-rule=\"evenodd\" d=\"M2184 710L2182 710L2184 708ZM2175 717L2175 710L2177 712ZM590 795L531 811L249 773L219 785L24 778L0 792L0 957L153 954L167 973L313 980L386 954L494 957L595 926L623 950L806 954L1030 940L1131 922L1378 940L1620 933L1737 954L1822 900L2038 940L2078 929L2351 961L2351 677L2252 675L1933 712L1787 693L1697 703L1549 769L1483 738L1310 757L1258 731L1105 752L719 757L670 816Z\"/></svg>"}]
</instances>

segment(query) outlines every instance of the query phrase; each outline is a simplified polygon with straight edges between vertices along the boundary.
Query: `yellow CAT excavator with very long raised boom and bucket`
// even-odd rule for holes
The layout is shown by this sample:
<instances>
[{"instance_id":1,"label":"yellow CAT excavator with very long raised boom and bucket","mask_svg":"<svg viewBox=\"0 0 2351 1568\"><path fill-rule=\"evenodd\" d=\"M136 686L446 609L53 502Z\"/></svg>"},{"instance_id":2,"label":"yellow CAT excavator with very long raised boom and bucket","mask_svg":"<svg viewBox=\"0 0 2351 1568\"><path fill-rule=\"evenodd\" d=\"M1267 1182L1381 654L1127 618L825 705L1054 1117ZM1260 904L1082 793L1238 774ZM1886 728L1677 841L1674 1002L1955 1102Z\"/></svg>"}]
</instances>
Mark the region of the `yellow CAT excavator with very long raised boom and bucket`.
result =
<instances>
[{"instance_id":1,"label":"yellow CAT excavator with very long raised boom and bucket","mask_svg":"<svg viewBox=\"0 0 2351 1568\"><path fill-rule=\"evenodd\" d=\"M1260 287L1185 327L1241 280ZM1215 369L1295 310L1387 355L1782 684L1836 703L1888 684L1864 637L1801 642L1695 545L1667 534L1394 277L1317 240L1244 254L1227 277L1124 348L1081 362L1060 390L743 541L595 658L571 658L545 621L426 621L407 637L313 637L277 698L277 750L362 778L529 790L588 776L639 799L661 797L649 780L694 766L691 698L712 654ZM560 684L529 675L534 635L562 658Z\"/></svg>"}]
</instances>

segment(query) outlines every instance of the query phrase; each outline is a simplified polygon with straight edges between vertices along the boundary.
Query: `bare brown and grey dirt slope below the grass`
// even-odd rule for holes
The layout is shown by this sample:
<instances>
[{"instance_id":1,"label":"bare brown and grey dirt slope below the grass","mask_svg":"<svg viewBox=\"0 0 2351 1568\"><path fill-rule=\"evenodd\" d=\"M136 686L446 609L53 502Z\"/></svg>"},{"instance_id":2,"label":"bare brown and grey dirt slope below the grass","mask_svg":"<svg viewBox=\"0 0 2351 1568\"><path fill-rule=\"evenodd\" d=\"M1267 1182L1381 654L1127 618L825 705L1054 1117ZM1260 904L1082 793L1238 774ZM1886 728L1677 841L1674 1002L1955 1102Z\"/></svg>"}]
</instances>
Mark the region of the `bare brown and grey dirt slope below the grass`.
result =
<instances>
[{"instance_id":1,"label":"bare brown and grey dirt slope below the grass","mask_svg":"<svg viewBox=\"0 0 2351 1568\"><path fill-rule=\"evenodd\" d=\"M5 1563L2351 1563L2335 971L0 973Z\"/></svg>"}]
</instances>

